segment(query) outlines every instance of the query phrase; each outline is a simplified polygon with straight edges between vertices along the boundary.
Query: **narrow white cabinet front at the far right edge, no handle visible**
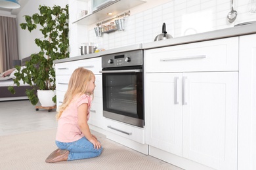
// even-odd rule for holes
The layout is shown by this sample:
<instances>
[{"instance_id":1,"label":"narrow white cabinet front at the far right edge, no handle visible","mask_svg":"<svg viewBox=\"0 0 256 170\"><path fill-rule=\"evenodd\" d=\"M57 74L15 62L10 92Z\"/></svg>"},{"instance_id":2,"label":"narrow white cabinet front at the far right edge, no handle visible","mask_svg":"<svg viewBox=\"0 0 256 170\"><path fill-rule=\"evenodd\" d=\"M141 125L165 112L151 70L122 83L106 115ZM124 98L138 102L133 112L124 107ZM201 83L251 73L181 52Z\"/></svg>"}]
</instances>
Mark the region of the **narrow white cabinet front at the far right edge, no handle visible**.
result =
<instances>
[{"instance_id":1,"label":"narrow white cabinet front at the far right edge, no handle visible","mask_svg":"<svg viewBox=\"0 0 256 170\"><path fill-rule=\"evenodd\" d=\"M256 34L240 37L238 169L256 169Z\"/></svg>"}]
</instances>

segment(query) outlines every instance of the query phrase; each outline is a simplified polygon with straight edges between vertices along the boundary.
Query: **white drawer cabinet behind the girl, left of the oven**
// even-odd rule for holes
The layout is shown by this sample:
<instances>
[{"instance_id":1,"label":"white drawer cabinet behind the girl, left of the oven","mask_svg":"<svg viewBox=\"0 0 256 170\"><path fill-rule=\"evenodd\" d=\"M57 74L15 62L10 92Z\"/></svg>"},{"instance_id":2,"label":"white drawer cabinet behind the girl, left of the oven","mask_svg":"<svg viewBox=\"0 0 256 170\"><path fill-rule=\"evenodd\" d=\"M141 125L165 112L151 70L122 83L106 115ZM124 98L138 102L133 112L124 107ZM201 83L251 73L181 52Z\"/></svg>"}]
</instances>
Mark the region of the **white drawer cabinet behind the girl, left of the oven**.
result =
<instances>
[{"instance_id":1,"label":"white drawer cabinet behind the girl, left of the oven","mask_svg":"<svg viewBox=\"0 0 256 170\"><path fill-rule=\"evenodd\" d=\"M66 90L68 89L68 82L70 76L75 69L84 67L93 71L95 74L95 91L94 99L91 104L91 116L89 124L93 126L104 128L103 109L102 109L102 75L101 58L79 59L75 61L68 61L64 63L56 63L56 103L57 107L62 104Z\"/></svg>"}]
</instances>

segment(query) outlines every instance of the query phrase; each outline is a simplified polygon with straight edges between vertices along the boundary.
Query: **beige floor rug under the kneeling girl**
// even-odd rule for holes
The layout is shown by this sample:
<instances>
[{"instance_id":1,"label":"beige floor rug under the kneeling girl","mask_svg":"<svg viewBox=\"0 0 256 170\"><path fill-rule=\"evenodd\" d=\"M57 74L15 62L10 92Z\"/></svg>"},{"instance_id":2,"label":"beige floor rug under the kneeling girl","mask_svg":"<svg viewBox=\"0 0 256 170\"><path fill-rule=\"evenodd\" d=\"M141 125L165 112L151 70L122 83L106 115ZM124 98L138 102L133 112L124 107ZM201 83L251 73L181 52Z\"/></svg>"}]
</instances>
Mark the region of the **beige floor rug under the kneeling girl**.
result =
<instances>
[{"instance_id":1,"label":"beige floor rug under the kneeling girl","mask_svg":"<svg viewBox=\"0 0 256 170\"><path fill-rule=\"evenodd\" d=\"M108 139L100 141L103 151L97 158L45 163L56 149L56 129L0 137L0 169L165 169Z\"/></svg>"}]
</instances>

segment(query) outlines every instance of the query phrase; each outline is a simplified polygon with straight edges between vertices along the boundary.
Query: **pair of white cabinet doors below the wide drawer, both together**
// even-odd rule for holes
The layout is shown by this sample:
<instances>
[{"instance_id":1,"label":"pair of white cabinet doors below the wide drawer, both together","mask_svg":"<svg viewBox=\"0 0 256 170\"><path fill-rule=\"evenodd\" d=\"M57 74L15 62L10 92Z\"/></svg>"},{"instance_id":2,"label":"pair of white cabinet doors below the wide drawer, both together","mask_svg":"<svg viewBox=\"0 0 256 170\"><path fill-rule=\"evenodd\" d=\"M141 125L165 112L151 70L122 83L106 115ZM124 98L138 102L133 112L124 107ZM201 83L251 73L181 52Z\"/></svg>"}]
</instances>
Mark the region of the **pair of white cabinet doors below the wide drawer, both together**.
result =
<instances>
[{"instance_id":1,"label":"pair of white cabinet doors below the wide drawer, both together","mask_svg":"<svg viewBox=\"0 0 256 170\"><path fill-rule=\"evenodd\" d=\"M214 169L236 169L238 73L146 75L146 142Z\"/></svg>"}]
</instances>

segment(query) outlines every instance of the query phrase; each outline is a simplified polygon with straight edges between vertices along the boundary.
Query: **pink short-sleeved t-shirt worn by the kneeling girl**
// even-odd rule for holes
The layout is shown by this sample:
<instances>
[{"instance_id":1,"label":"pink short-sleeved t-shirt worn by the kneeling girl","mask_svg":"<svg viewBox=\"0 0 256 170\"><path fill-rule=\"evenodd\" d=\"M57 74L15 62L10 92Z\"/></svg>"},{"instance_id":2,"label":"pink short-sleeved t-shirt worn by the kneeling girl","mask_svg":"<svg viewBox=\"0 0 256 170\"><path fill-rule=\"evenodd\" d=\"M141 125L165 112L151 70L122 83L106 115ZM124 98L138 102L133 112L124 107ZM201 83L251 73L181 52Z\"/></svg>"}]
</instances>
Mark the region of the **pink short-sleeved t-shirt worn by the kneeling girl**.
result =
<instances>
[{"instance_id":1,"label":"pink short-sleeved t-shirt worn by the kneeling girl","mask_svg":"<svg viewBox=\"0 0 256 170\"><path fill-rule=\"evenodd\" d=\"M91 96L85 94L74 97L58 119L56 141L71 143L84 137L78 126L78 107L83 103L88 103L88 110L85 114L87 114L87 120L89 120L91 101Z\"/></svg>"}]
</instances>

